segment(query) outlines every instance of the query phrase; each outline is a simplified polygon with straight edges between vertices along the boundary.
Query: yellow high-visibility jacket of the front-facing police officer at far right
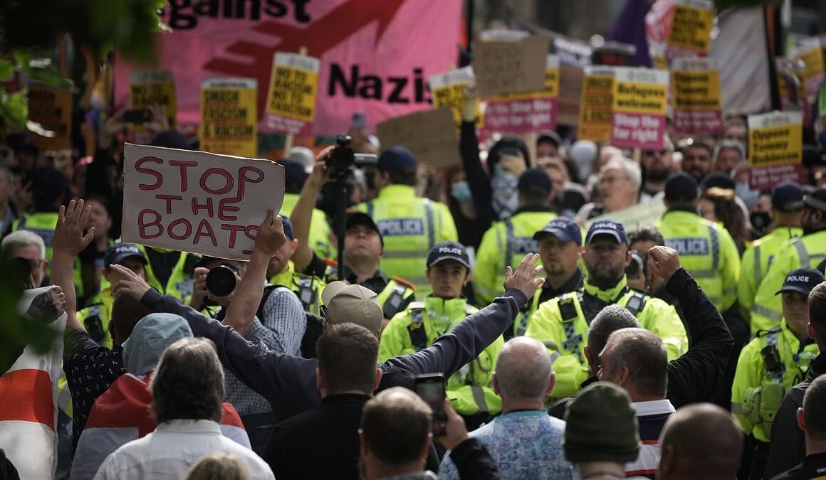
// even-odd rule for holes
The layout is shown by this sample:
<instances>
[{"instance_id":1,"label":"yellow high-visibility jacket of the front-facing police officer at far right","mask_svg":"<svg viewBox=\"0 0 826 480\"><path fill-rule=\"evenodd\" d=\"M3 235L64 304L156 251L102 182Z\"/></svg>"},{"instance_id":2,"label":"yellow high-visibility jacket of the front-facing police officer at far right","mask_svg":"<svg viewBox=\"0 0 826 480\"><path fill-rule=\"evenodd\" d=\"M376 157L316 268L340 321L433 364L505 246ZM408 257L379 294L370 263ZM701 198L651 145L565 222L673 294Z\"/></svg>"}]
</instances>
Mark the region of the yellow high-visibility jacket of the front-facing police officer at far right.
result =
<instances>
[{"instance_id":1,"label":"yellow high-visibility jacket of the front-facing police officer at far right","mask_svg":"<svg viewBox=\"0 0 826 480\"><path fill-rule=\"evenodd\" d=\"M809 362L818 353L814 342L801 345L785 320L758 332L743 347L731 387L731 412L746 435L771 440L771 422L783 395L805 379Z\"/></svg>"}]
</instances>

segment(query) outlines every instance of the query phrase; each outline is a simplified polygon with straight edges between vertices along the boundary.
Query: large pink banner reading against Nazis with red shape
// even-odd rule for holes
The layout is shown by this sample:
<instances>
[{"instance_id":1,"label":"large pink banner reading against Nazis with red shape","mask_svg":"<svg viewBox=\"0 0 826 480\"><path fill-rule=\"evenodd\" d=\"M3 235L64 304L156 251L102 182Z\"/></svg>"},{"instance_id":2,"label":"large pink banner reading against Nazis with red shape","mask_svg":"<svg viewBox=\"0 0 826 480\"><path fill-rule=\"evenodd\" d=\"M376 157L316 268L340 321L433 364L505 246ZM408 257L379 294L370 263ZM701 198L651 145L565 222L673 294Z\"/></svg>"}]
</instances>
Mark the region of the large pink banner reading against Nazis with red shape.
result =
<instances>
[{"instance_id":1,"label":"large pink banner reading against Nazis with red shape","mask_svg":"<svg viewBox=\"0 0 826 480\"><path fill-rule=\"evenodd\" d=\"M194 4L194 5L193 5ZM419 0L175 0L160 35L158 68L172 71L178 123L199 121L201 82L258 80L263 116L273 54L321 60L314 134L336 134L364 112L372 129L382 120L429 109L426 81L456 63L462 2ZM146 68L116 62L116 104L128 105L129 73ZM268 122L259 129L271 131Z\"/></svg>"}]
</instances>

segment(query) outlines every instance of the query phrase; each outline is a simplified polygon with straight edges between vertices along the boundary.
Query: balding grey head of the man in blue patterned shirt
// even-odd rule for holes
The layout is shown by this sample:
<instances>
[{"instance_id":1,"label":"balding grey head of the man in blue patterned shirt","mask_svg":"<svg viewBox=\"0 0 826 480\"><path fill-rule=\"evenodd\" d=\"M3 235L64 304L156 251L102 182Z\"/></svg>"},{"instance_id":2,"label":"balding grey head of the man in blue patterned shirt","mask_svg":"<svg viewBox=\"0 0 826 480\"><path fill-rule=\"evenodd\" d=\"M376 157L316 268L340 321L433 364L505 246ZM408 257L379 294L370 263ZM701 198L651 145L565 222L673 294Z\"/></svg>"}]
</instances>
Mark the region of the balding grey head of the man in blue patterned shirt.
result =
<instances>
[{"instance_id":1,"label":"balding grey head of the man in blue patterned shirt","mask_svg":"<svg viewBox=\"0 0 826 480\"><path fill-rule=\"evenodd\" d=\"M551 382L551 359L541 342L517 336L499 352L494 375L503 401L544 400Z\"/></svg>"}]
</instances>

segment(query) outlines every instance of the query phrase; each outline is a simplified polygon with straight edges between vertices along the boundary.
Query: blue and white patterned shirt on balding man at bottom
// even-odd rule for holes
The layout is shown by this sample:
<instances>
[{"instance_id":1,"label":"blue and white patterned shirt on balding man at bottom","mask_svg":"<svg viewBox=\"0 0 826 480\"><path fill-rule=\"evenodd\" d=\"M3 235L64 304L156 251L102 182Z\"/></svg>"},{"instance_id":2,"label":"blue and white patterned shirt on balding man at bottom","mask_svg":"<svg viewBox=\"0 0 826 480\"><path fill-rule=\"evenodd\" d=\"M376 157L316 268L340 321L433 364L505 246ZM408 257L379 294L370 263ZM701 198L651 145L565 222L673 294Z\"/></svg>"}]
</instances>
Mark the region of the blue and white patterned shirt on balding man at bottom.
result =
<instances>
[{"instance_id":1,"label":"blue and white patterned shirt on balding man at bottom","mask_svg":"<svg viewBox=\"0 0 826 480\"><path fill-rule=\"evenodd\" d=\"M470 432L485 445L502 480L578 478L565 459L565 422L535 410L510 412ZM445 455L439 478L458 480L456 465Z\"/></svg>"}]
</instances>

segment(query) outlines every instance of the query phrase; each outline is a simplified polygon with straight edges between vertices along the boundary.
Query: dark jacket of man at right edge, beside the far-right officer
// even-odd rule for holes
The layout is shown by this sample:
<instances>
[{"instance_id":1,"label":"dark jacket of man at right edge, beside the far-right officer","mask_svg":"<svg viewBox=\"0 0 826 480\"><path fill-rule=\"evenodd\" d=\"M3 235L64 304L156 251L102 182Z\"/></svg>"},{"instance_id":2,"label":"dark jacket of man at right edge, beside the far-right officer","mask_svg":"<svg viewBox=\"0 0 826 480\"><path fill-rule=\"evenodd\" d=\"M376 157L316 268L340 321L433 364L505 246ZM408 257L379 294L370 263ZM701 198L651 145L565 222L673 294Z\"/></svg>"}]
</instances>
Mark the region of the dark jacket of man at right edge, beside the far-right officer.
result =
<instances>
[{"instance_id":1,"label":"dark jacket of man at right edge, beside the far-right officer","mask_svg":"<svg viewBox=\"0 0 826 480\"><path fill-rule=\"evenodd\" d=\"M826 374L826 352L812 360L806 379L792 387L783 398L777 416L771 424L769 458L763 478L773 478L805 459L806 442L803 431L797 425L797 409L803 407L803 396L812 380L822 374Z\"/></svg>"}]
</instances>

